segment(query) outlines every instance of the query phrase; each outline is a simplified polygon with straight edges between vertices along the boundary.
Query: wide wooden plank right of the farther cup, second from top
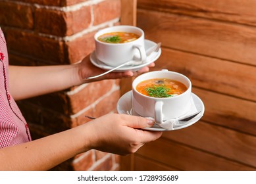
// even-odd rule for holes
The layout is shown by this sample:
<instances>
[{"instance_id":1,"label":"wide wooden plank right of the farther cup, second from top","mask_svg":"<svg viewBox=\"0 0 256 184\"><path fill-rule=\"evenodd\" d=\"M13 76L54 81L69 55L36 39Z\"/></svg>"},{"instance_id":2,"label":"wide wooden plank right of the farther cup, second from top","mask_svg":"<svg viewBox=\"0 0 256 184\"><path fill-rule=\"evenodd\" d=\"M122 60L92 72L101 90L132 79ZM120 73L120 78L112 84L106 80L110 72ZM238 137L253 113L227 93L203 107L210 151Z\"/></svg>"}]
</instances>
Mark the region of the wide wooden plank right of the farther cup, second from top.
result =
<instances>
[{"instance_id":1,"label":"wide wooden plank right of the farther cup, second from top","mask_svg":"<svg viewBox=\"0 0 256 184\"><path fill-rule=\"evenodd\" d=\"M144 10L137 25L163 47L256 66L256 28Z\"/></svg>"}]
</instances>

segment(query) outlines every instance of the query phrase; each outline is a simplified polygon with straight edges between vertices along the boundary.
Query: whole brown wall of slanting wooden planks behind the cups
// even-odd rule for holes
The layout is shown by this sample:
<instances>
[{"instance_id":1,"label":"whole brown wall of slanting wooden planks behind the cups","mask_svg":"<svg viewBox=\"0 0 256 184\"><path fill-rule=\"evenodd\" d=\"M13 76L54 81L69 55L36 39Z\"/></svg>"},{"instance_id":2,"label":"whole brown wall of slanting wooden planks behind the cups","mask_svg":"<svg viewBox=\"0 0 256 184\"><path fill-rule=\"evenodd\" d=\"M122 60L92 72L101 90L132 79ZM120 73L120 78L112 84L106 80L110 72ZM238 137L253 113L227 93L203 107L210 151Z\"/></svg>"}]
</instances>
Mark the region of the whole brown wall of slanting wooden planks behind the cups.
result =
<instances>
[{"instance_id":1,"label":"whole brown wall of slanting wooden planks behind the cups","mask_svg":"<svg viewBox=\"0 0 256 184\"><path fill-rule=\"evenodd\" d=\"M162 42L153 70L188 76L205 114L141 147L122 170L256 170L255 9L253 0L138 0L137 26Z\"/></svg>"}]
</instances>

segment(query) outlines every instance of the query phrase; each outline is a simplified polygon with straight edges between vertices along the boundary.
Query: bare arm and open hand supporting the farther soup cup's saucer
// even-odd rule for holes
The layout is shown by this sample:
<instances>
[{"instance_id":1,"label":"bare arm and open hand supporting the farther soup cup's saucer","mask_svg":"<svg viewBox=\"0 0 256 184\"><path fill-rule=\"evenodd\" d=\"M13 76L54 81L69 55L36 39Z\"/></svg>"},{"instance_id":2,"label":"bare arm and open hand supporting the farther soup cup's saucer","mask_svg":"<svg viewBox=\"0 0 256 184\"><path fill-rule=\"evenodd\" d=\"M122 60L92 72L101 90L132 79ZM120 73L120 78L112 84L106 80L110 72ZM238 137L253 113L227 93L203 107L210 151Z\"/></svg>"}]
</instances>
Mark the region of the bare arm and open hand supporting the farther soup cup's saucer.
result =
<instances>
[{"instance_id":1,"label":"bare arm and open hand supporting the farther soup cup's saucer","mask_svg":"<svg viewBox=\"0 0 256 184\"><path fill-rule=\"evenodd\" d=\"M138 72L111 72L95 80L84 80L84 78L104 72L93 66L89 59L88 56L82 62L71 65L10 66L10 92L15 100L26 99L91 81L131 77L147 72L149 67L154 66L152 63Z\"/></svg>"}]
</instances>

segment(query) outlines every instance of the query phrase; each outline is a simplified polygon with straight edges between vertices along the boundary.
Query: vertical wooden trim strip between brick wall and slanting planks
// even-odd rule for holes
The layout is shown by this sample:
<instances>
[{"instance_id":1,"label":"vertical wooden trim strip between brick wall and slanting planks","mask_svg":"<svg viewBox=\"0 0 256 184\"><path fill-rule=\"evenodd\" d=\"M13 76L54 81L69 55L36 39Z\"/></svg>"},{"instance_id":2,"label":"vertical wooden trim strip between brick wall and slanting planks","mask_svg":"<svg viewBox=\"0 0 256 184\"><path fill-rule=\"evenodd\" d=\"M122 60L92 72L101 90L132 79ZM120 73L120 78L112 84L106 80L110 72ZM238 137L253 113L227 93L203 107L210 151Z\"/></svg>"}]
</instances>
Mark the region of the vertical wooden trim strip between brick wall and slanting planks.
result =
<instances>
[{"instance_id":1,"label":"vertical wooden trim strip between brick wall and slanting planks","mask_svg":"<svg viewBox=\"0 0 256 184\"><path fill-rule=\"evenodd\" d=\"M137 22L137 0L121 0L121 24L136 26ZM120 80L120 93L124 95L132 89L132 78ZM120 170L134 170L134 154L121 156Z\"/></svg>"}]
</instances>

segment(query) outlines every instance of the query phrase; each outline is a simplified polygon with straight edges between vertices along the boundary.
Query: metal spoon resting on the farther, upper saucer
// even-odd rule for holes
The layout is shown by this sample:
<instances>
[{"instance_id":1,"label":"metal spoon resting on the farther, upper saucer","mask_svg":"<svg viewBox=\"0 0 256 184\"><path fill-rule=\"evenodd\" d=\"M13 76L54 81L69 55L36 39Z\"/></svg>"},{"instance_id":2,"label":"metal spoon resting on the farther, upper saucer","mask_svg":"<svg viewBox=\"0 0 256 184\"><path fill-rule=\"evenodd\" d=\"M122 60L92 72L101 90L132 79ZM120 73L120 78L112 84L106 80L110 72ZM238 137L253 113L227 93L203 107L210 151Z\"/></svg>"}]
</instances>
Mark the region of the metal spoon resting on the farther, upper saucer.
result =
<instances>
[{"instance_id":1,"label":"metal spoon resting on the farther, upper saucer","mask_svg":"<svg viewBox=\"0 0 256 184\"><path fill-rule=\"evenodd\" d=\"M149 48L147 50L147 53L146 53L147 57L149 57L149 55L151 55L151 53L159 51L160 47L161 47L161 42L159 42L159 43L157 43L157 45L154 45L153 47ZM105 74L109 74L110 72L113 72L114 70L116 70L118 68L121 68L122 66L126 66L126 65L136 66L136 65L141 64L141 63L143 63L143 62L134 62L133 60L132 61L129 60L128 62L124 62L124 64L120 64L119 66L116 66L115 68L112 68L111 70L107 70L107 72L104 72L104 73L99 74L97 76L91 76L91 77L85 78L84 80L91 80L91 79L94 79L94 78L99 78L101 76L104 76Z\"/></svg>"}]
</instances>

